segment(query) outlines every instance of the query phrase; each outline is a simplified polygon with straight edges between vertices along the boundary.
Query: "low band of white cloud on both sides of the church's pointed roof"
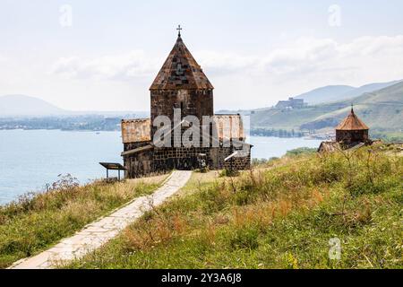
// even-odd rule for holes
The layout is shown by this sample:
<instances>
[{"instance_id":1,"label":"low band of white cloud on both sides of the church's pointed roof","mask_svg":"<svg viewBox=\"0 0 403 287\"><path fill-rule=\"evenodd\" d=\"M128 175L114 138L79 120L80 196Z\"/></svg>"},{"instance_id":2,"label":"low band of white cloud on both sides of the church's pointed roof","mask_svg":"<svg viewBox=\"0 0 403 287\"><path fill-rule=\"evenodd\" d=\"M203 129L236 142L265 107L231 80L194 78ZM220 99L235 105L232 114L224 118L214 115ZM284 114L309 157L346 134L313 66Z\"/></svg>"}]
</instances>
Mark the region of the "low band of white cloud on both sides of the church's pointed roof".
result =
<instances>
[{"instance_id":1,"label":"low band of white cloud on both sides of the church's pointed roof","mask_svg":"<svg viewBox=\"0 0 403 287\"><path fill-rule=\"evenodd\" d=\"M259 55L213 50L193 54L212 77L223 75L267 78L272 83L313 81L322 84L381 81L403 77L403 36L361 37L347 43L334 39L301 38ZM164 55L165 56L165 55ZM52 71L73 78L132 81L151 77L163 64L143 50L122 55L63 57Z\"/></svg>"}]
</instances>

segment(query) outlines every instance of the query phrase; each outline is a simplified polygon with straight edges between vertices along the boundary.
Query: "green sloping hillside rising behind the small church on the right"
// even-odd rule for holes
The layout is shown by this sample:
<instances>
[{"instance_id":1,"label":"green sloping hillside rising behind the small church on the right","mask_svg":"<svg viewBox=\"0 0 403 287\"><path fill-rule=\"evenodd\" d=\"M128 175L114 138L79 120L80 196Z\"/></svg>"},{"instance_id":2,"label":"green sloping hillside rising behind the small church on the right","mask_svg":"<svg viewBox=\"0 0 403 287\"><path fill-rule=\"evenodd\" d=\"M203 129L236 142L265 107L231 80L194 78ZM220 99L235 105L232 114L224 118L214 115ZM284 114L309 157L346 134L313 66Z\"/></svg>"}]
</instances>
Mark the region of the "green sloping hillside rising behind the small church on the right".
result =
<instances>
[{"instance_id":1,"label":"green sloping hillside rising behind the small church on the right","mask_svg":"<svg viewBox=\"0 0 403 287\"><path fill-rule=\"evenodd\" d=\"M356 114L374 131L403 129L403 83L365 93L354 100L322 104L306 109L264 109L252 115L253 128L322 129L334 128L347 116L351 103Z\"/></svg>"}]
</instances>

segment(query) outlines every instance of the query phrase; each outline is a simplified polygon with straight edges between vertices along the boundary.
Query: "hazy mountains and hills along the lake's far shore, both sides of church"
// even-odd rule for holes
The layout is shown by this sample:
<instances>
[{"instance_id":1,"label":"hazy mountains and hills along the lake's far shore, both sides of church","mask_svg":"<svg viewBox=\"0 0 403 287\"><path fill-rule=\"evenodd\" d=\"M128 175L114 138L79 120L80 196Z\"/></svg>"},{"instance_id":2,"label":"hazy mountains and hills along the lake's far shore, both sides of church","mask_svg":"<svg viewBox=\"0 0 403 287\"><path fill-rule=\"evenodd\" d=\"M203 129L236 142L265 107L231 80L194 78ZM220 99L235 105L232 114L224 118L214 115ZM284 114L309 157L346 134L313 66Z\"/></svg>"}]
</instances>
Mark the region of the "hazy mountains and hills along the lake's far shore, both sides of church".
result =
<instances>
[{"instance_id":1,"label":"hazy mountains and hills along the lake's far shore, both sides of church","mask_svg":"<svg viewBox=\"0 0 403 287\"><path fill-rule=\"evenodd\" d=\"M252 113L252 128L285 130L329 130L347 116L351 103L356 114L373 130L403 130L403 81L370 83L359 88L347 85L327 86L306 92L298 98L313 102L304 109L256 109ZM59 109L37 98L10 95L0 97L0 117L15 116L123 116L146 112L77 112ZM249 113L249 111L248 111Z\"/></svg>"}]
</instances>

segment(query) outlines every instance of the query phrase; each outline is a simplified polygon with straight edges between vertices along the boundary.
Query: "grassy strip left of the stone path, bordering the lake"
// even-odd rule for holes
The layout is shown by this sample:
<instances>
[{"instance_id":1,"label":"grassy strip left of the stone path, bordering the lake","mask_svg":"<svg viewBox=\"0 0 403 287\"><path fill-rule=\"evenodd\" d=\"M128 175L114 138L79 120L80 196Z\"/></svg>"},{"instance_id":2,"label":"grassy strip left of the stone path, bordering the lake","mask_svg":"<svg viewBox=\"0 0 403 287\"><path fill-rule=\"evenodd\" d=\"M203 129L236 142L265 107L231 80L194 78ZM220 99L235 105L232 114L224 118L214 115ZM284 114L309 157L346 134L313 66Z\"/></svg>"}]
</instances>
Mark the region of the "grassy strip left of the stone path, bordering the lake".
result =
<instances>
[{"instance_id":1,"label":"grassy strip left of the stone path, bordering the lake","mask_svg":"<svg viewBox=\"0 0 403 287\"><path fill-rule=\"evenodd\" d=\"M0 206L0 268L39 253L157 187L142 182L95 182L79 187L72 178L61 178L46 193L29 194Z\"/></svg>"}]
</instances>

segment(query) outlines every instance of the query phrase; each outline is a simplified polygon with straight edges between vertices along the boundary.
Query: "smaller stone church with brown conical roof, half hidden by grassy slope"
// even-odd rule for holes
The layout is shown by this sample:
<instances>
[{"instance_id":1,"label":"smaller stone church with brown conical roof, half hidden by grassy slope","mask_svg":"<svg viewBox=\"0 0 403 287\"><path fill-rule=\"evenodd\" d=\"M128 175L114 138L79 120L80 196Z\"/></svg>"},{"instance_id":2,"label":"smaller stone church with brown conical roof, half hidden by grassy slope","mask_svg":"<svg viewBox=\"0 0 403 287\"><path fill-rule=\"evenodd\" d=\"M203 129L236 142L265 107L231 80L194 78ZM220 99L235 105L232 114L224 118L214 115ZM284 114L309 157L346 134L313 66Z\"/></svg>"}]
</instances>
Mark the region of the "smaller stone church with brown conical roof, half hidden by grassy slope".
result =
<instances>
[{"instance_id":1,"label":"smaller stone church with brown conical roof, half hidden by grassy slope","mask_svg":"<svg viewBox=\"0 0 403 287\"><path fill-rule=\"evenodd\" d=\"M350 114L336 127L336 141L322 142L318 152L335 152L356 146L371 145L369 127L356 116L353 107Z\"/></svg>"}]
</instances>

